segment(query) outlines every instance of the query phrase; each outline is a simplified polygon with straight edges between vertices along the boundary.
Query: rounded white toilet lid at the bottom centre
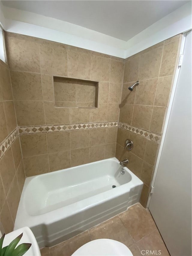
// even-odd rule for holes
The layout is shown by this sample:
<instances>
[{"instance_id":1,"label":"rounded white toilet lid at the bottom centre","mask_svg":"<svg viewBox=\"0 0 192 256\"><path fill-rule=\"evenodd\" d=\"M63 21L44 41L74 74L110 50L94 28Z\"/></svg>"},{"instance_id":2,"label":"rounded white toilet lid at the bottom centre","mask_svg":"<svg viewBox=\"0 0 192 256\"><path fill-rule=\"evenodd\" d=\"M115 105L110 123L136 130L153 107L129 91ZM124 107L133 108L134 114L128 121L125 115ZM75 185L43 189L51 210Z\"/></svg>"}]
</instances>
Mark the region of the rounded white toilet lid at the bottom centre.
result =
<instances>
[{"instance_id":1,"label":"rounded white toilet lid at the bottom centre","mask_svg":"<svg viewBox=\"0 0 192 256\"><path fill-rule=\"evenodd\" d=\"M96 239L82 245L72 256L133 256L129 248L121 242L112 239Z\"/></svg>"}]
</instances>

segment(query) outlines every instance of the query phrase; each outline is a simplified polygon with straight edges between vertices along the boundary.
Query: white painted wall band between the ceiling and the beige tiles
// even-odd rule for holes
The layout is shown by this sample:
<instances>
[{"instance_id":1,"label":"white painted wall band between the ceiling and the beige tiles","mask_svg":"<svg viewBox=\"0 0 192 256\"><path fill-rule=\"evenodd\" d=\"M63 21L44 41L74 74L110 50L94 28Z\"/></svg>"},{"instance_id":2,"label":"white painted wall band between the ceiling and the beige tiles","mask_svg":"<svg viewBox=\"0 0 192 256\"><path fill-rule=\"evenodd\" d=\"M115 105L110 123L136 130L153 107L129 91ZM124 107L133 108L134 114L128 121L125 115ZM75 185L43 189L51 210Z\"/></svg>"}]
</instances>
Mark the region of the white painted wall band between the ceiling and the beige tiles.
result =
<instances>
[{"instance_id":1,"label":"white painted wall band between the ceiling and the beige tiles","mask_svg":"<svg viewBox=\"0 0 192 256\"><path fill-rule=\"evenodd\" d=\"M174 35L186 32L191 25L191 2L170 13L129 41L61 20L1 5L0 22L4 30L34 36L76 47L127 58Z\"/></svg>"}]
</instances>

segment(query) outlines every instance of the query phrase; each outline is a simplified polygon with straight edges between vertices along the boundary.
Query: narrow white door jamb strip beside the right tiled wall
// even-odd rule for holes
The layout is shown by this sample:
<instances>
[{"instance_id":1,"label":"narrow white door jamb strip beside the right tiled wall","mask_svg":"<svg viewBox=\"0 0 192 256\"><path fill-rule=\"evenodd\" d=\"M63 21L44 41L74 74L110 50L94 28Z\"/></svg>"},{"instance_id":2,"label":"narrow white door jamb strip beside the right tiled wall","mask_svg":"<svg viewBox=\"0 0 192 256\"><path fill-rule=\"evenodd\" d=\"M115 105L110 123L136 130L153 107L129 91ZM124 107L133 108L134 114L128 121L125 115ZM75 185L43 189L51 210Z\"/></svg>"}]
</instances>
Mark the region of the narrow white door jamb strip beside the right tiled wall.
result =
<instances>
[{"instance_id":1,"label":"narrow white door jamb strip beside the right tiled wall","mask_svg":"<svg viewBox=\"0 0 192 256\"><path fill-rule=\"evenodd\" d=\"M183 35L183 38L182 38L180 54L184 53L185 41L186 41L186 33ZM155 179L156 179L157 172L158 172L158 167L159 167L159 163L160 163L160 159L161 159L161 154L162 154L162 151L163 151L165 137L166 137L166 134L167 134L167 128L168 128L168 124L169 124L169 120L170 120L170 116L171 116L171 110L172 110L172 107L173 107L173 101L174 101L174 98L175 98L175 93L176 93L177 83L178 83L178 79L179 79L180 69L181 69L181 66L178 66L177 70L176 70L174 82L173 82L173 89L172 89L172 92L171 92L169 106L167 108L167 115L166 115L166 118L165 118L164 130L163 130L163 134L162 134L162 137L161 137L161 144L160 144L160 147L159 147L158 157L157 157L157 161L156 161L156 165L155 165L155 170L154 170L154 175L153 175L153 179L152 179L152 182L151 182L151 186L154 186ZM146 206L147 208L149 208L151 197L152 197L152 194L149 193L149 198L148 198L147 206Z\"/></svg>"}]
</instances>

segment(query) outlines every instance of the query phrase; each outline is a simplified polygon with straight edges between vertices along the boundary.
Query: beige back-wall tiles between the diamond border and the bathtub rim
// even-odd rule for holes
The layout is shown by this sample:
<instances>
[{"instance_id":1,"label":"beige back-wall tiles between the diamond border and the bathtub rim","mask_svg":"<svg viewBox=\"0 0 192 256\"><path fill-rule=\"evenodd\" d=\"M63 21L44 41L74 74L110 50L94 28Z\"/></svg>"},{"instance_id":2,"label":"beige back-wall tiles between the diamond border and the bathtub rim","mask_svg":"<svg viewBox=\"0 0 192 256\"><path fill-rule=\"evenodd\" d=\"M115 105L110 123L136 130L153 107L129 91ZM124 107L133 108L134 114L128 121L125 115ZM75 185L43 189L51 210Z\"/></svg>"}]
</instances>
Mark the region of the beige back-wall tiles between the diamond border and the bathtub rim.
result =
<instances>
[{"instance_id":1,"label":"beige back-wall tiles between the diamond border and the bathtub rim","mask_svg":"<svg viewBox=\"0 0 192 256\"><path fill-rule=\"evenodd\" d=\"M21 135L26 176L115 156L117 127Z\"/></svg>"}]
</instances>

